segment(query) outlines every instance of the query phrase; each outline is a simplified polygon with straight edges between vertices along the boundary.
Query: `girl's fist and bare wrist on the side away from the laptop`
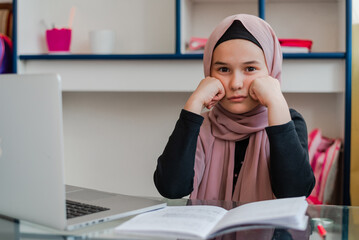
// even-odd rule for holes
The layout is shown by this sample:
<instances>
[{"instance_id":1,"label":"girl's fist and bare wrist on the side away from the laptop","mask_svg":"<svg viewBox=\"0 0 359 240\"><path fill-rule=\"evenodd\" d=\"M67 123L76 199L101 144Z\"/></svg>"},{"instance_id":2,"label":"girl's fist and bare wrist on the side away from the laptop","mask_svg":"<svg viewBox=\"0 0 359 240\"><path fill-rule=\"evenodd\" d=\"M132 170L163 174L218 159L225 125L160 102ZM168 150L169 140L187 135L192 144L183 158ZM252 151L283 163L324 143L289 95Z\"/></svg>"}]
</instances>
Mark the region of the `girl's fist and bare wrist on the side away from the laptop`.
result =
<instances>
[{"instance_id":1,"label":"girl's fist and bare wrist on the side away from the laptop","mask_svg":"<svg viewBox=\"0 0 359 240\"><path fill-rule=\"evenodd\" d=\"M254 79L249 87L249 95L268 108L269 126L285 124L291 120L287 101L277 79L270 76Z\"/></svg>"}]
</instances>

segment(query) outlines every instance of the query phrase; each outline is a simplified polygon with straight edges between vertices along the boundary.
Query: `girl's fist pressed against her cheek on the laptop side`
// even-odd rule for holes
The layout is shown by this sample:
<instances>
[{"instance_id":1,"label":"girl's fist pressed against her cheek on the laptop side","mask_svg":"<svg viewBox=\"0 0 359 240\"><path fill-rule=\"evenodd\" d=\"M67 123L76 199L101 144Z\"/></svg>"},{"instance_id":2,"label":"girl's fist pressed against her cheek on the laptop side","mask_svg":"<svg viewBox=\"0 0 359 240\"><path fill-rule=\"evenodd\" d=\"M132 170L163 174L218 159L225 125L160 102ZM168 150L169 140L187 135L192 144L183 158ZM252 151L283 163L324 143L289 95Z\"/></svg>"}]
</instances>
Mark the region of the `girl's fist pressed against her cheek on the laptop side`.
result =
<instances>
[{"instance_id":1,"label":"girl's fist pressed against her cheek on the laptop side","mask_svg":"<svg viewBox=\"0 0 359 240\"><path fill-rule=\"evenodd\" d=\"M224 96L225 90L222 83L217 78L206 77L189 97L184 109L201 114L204 107L211 109Z\"/></svg>"}]
</instances>

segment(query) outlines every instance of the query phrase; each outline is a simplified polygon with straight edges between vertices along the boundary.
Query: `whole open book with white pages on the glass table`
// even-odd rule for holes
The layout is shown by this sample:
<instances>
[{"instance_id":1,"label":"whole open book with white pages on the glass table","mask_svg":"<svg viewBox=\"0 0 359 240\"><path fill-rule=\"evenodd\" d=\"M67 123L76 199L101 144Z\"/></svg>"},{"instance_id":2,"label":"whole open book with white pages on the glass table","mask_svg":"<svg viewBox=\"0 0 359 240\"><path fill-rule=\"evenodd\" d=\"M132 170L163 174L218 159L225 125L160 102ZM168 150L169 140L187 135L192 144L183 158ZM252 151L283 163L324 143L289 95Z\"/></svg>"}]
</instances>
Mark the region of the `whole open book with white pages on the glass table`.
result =
<instances>
[{"instance_id":1,"label":"whole open book with white pages on the glass table","mask_svg":"<svg viewBox=\"0 0 359 240\"><path fill-rule=\"evenodd\" d=\"M208 239L241 227L273 226L305 230L308 216L305 197L247 203L229 211L209 205L168 206L130 219L118 233Z\"/></svg>"}]
</instances>

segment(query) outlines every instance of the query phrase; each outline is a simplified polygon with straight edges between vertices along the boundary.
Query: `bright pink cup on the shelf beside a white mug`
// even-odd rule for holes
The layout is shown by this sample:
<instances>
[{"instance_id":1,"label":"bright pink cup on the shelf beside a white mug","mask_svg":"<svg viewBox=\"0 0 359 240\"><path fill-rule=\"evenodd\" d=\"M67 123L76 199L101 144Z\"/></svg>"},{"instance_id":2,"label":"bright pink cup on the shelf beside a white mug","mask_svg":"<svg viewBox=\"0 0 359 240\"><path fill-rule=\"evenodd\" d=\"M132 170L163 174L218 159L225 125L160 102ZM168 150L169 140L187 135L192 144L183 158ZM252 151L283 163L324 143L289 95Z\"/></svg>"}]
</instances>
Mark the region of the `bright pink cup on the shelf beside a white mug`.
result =
<instances>
[{"instance_id":1,"label":"bright pink cup on the shelf beside a white mug","mask_svg":"<svg viewBox=\"0 0 359 240\"><path fill-rule=\"evenodd\" d=\"M53 28L46 30L46 42L49 52L69 52L71 45L71 29Z\"/></svg>"}]
</instances>

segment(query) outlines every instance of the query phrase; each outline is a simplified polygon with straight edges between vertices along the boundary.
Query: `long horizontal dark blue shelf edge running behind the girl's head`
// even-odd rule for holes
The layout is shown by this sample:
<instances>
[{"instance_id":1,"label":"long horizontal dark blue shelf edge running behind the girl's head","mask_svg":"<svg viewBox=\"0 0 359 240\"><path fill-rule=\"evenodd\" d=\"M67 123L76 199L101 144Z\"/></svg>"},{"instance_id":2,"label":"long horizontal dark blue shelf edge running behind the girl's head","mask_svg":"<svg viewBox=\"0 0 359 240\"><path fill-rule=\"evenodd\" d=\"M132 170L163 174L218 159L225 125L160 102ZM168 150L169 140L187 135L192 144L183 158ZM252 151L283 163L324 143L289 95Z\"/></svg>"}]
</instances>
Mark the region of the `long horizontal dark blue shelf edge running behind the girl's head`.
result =
<instances>
[{"instance_id":1,"label":"long horizontal dark blue shelf edge running behind the girl's head","mask_svg":"<svg viewBox=\"0 0 359 240\"><path fill-rule=\"evenodd\" d=\"M346 54L332 53L285 53L284 59L345 59ZM203 54L33 54L20 55L20 60L186 60L202 59Z\"/></svg>"}]
</instances>

